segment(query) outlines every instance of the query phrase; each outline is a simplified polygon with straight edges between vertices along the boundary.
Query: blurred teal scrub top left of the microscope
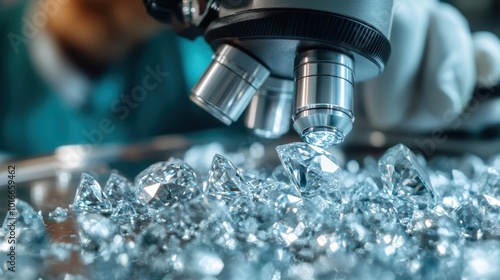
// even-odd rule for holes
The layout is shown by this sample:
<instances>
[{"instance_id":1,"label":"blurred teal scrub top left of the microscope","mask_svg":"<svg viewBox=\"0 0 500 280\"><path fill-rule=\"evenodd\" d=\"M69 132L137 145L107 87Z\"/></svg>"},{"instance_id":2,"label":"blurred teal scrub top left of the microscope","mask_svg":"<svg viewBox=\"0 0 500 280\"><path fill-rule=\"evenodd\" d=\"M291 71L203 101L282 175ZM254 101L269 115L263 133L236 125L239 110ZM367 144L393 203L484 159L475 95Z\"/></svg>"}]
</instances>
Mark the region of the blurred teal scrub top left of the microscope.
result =
<instances>
[{"instance_id":1,"label":"blurred teal scrub top left of the microscope","mask_svg":"<svg viewBox=\"0 0 500 280\"><path fill-rule=\"evenodd\" d=\"M0 152L29 156L218 125L189 100L212 57L203 38L163 32L111 65L82 106L69 106L31 61L22 31L26 3L0 9Z\"/></svg>"}]
</instances>

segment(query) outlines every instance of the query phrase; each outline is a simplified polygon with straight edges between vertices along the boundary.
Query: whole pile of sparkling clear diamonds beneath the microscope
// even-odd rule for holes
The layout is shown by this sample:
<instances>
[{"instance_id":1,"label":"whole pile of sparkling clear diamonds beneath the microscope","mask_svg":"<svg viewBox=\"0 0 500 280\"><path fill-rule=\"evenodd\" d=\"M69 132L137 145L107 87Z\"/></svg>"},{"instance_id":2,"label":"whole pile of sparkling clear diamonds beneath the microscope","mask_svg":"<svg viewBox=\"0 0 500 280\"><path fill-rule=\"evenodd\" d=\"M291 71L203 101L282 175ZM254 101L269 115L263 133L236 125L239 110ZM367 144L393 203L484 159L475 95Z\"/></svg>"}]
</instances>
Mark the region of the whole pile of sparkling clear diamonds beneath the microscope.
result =
<instances>
[{"instance_id":1,"label":"whole pile of sparkling clear diamonds beneath the microscope","mask_svg":"<svg viewBox=\"0 0 500 280\"><path fill-rule=\"evenodd\" d=\"M89 267L77 279L500 278L500 158L427 163L397 145L341 168L305 143L277 152L272 171L212 154L205 172L188 152L134 182L113 173L101 188L84 173L69 211L80 245L48 241L18 201L20 245L77 250Z\"/></svg>"}]
</instances>

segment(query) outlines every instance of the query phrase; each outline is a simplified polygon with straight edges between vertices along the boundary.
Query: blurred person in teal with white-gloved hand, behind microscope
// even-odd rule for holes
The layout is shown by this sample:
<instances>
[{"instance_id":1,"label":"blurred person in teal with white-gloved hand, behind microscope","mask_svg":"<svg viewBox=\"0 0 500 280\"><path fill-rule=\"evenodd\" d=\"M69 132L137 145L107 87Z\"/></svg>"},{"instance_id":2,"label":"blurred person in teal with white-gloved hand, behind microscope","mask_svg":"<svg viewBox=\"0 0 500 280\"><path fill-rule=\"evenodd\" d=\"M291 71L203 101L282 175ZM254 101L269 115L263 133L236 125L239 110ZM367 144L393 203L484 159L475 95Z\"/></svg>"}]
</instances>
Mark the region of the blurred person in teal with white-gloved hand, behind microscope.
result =
<instances>
[{"instance_id":1,"label":"blurred person in teal with white-gloved hand, behind microscope","mask_svg":"<svg viewBox=\"0 0 500 280\"><path fill-rule=\"evenodd\" d=\"M33 155L218 124L187 98L211 49L156 22L141 0L0 3L0 150ZM390 40L386 71L357 87L360 127L449 126L479 81L500 80L498 37L472 36L448 4L396 0Z\"/></svg>"}]
</instances>

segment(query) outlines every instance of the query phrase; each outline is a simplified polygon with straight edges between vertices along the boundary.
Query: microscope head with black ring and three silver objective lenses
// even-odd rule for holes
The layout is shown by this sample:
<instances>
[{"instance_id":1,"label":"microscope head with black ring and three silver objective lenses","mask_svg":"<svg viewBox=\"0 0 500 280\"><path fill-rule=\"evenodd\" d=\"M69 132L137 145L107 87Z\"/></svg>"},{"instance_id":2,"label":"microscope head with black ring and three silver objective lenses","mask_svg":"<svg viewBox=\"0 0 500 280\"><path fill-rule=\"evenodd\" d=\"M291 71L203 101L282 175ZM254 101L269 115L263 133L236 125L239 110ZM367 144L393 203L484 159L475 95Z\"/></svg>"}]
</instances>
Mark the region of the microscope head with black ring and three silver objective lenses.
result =
<instances>
[{"instance_id":1,"label":"microscope head with black ring and three silver objective lenses","mask_svg":"<svg viewBox=\"0 0 500 280\"><path fill-rule=\"evenodd\" d=\"M257 136L290 121L310 144L342 143L354 122L354 83L384 71L393 0L144 0L150 15L190 39L211 65L191 100L226 125L247 110Z\"/></svg>"}]
</instances>

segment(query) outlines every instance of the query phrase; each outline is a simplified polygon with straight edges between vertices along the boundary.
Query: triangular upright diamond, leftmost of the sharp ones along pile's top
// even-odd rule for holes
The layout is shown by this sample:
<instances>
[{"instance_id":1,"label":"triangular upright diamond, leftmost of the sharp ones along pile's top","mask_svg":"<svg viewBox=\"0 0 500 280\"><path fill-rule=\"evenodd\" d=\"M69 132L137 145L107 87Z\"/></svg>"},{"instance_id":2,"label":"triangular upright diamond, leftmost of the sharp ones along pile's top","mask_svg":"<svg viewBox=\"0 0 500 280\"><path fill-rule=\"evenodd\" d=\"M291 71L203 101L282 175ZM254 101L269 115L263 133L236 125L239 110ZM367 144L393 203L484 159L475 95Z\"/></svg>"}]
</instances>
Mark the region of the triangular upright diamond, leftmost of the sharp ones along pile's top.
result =
<instances>
[{"instance_id":1,"label":"triangular upright diamond, leftmost of the sharp ones along pile's top","mask_svg":"<svg viewBox=\"0 0 500 280\"><path fill-rule=\"evenodd\" d=\"M89 174L82 173L73 201L73 211L109 213L111 209L111 203L99 183Z\"/></svg>"}]
</instances>

